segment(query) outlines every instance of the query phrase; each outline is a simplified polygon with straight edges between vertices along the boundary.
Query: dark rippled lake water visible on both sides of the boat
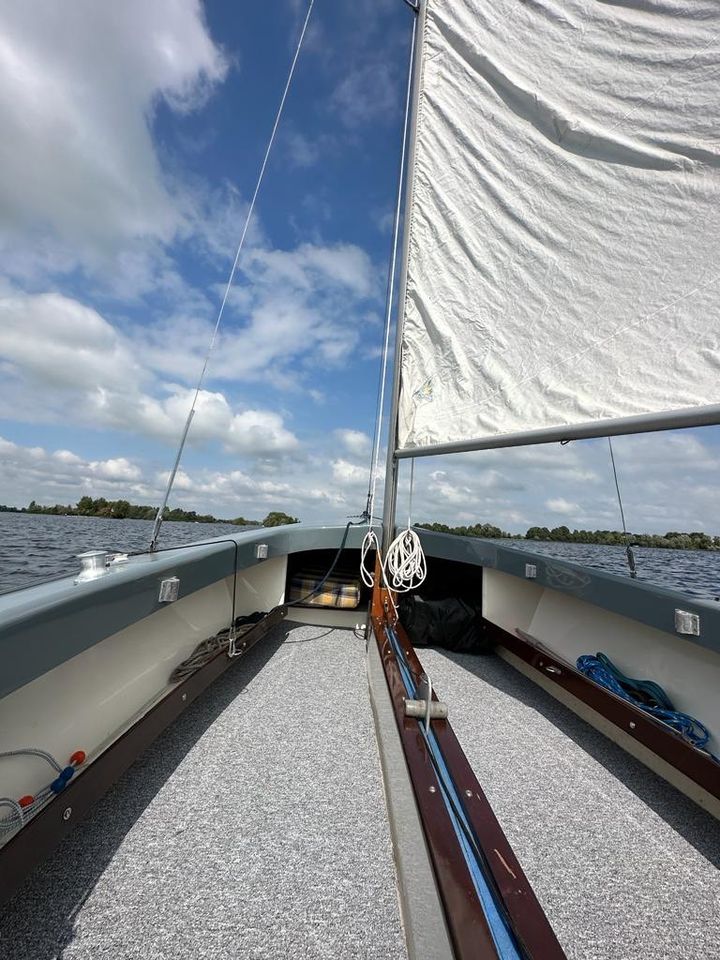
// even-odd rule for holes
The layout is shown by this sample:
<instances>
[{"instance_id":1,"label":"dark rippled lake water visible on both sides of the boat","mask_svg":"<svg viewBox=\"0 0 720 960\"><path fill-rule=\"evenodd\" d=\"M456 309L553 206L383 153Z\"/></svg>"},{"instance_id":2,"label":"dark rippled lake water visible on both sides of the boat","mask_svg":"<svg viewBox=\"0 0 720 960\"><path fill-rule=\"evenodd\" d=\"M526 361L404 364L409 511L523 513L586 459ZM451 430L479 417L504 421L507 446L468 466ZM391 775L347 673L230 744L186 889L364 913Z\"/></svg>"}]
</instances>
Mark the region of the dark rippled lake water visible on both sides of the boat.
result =
<instances>
[{"instance_id":1,"label":"dark rippled lake water visible on both sides of the boat","mask_svg":"<svg viewBox=\"0 0 720 960\"><path fill-rule=\"evenodd\" d=\"M227 523L165 523L162 546L210 540L242 529ZM0 513L0 592L77 573L85 550L131 551L147 548L150 520L55 517ZM623 547L581 543L502 541L509 546L572 560L609 573L627 575ZM638 579L714 600L720 596L720 552L636 547Z\"/></svg>"}]
</instances>

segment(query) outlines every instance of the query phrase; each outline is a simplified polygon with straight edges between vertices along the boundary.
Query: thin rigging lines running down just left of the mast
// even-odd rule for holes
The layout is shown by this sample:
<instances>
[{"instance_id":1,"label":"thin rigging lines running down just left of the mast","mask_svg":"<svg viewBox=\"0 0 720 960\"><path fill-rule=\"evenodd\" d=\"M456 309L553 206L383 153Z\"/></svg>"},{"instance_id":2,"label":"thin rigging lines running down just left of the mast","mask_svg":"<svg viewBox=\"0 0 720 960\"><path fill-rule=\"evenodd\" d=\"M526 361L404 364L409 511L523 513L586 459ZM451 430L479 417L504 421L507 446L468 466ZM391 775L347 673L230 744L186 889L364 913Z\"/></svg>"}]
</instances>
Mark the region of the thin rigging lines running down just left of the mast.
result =
<instances>
[{"instance_id":1,"label":"thin rigging lines running down just left of the mast","mask_svg":"<svg viewBox=\"0 0 720 960\"><path fill-rule=\"evenodd\" d=\"M409 4L413 7L413 4ZM413 7L413 9L415 9ZM375 520L375 493L378 481L378 464L380 462L380 441L382 438L382 417L385 407L385 390L387 386L388 357L390 353L390 329L392 327L392 311L395 299L395 275L397 272L398 243L400 239L400 214L402 211L403 188L405 184L405 162L407 157L408 133L410 129L410 104L412 100L412 76L415 67L415 34L417 32L417 18L413 19L412 37L410 40L410 63L408 66L407 90L405 94L405 119L403 121L402 145L400 148L400 166L398 170L397 197L395 201L395 218L393 220L392 248L390 266L388 268L387 288L385 294L385 329L383 339L382 360L378 377L378 392L375 411L375 432L373 433L372 453L370 456L370 476L368 480L368 496L365 515L368 530L360 548L360 575L366 587L373 587L375 575L365 565L368 553L380 551L377 535L373 530Z\"/></svg>"}]
</instances>

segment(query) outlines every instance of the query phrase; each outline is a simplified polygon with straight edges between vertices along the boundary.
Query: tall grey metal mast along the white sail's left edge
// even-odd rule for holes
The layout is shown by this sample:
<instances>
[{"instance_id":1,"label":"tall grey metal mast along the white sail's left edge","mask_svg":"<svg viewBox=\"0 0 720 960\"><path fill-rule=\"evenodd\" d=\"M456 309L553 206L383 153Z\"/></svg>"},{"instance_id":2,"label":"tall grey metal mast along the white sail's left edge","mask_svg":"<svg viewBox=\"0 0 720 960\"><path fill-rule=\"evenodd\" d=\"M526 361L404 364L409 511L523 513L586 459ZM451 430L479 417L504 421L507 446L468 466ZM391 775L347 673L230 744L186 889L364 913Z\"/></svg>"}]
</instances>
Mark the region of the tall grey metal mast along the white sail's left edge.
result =
<instances>
[{"instance_id":1,"label":"tall grey metal mast along the white sail's left edge","mask_svg":"<svg viewBox=\"0 0 720 960\"><path fill-rule=\"evenodd\" d=\"M408 0L406 0L408 2ZM383 542L385 553L395 536L395 508L397 505L398 458L395 455L398 435L398 407L400 403L400 375L402 365L402 336L405 298L407 296L408 261L410 259L410 212L415 173L415 148L417 142L417 116L420 101L420 77L422 75L422 48L425 32L427 0L418 0L417 5L408 2L415 11L413 25L413 49L408 82L412 85L410 98L410 129L408 138L408 163L405 174L405 196L403 215L403 250L400 260L400 283L397 298L397 320L395 325L395 349L393 353L393 381L388 421L387 460L385 467L385 498L383 502Z\"/></svg>"}]
</instances>

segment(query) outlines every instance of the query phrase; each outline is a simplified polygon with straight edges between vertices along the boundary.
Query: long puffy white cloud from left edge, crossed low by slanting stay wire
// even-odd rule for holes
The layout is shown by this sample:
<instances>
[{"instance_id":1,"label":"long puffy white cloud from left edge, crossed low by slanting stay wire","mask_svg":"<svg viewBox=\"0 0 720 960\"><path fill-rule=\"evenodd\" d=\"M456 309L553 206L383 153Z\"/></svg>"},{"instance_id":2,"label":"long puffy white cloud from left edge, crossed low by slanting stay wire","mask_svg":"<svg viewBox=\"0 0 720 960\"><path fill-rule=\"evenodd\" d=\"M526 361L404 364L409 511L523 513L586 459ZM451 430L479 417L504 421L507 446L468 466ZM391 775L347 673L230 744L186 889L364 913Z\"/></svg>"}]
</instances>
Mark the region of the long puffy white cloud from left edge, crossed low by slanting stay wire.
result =
<instances>
[{"instance_id":1,"label":"long puffy white cloud from left edge, crossed low by slanting stay wire","mask_svg":"<svg viewBox=\"0 0 720 960\"><path fill-rule=\"evenodd\" d=\"M194 390L158 380L131 338L95 310L59 294L0 301L0 414L16 420L112 427L176 443ZM18 402L20 398L21 401ZM270 455L298 447L283 417L235 409L223 393L198 396L191 442Z\"/></svg>"}]
</instances>

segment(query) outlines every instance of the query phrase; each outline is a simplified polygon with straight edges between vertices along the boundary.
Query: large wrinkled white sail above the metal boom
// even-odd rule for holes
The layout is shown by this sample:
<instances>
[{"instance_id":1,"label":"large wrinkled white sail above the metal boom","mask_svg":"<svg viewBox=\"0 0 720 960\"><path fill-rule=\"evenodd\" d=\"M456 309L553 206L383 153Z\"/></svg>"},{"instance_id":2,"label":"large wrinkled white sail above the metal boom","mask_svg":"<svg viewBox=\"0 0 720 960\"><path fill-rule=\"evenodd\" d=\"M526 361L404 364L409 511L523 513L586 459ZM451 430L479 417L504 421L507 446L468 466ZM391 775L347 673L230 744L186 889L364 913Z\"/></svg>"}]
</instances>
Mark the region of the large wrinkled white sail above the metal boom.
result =
<instances>
[{"instance_id":1,"label":"large wrinkled white sail above the metal boom","mask_svg":"<svg viewBox=\"0 0 720 960\"><path fill-rule=\"evenodd\" d=\"M720 3L428 0L420 27L400 449L717 422Z\"/></svg>"}]
</instances>

